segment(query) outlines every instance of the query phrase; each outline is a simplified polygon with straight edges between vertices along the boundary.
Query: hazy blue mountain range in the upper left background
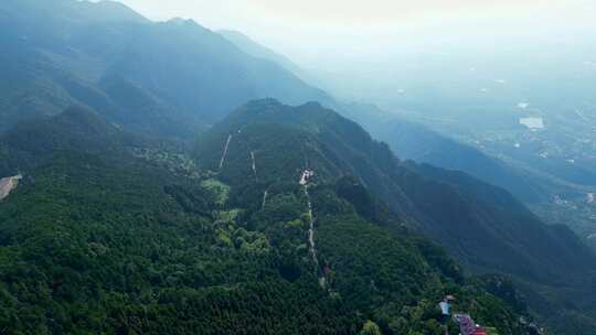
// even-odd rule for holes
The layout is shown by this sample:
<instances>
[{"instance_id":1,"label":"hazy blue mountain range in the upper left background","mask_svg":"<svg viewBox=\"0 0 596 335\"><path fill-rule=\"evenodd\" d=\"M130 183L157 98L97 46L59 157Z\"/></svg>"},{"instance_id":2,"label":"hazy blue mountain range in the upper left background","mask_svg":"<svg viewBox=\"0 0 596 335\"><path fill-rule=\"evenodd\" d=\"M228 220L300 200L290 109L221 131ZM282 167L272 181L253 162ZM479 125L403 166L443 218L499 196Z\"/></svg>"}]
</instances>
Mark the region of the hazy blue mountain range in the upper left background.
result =
<instances>
[{"instance_id":1,"label":"hazy blue mountain range in the upper left background","mask_svg":"<svg viewBox=\"0 0 596 335\"><path fill-rule=\"evenodd\" d=\"M3 1L0 131L74 104L137 132L192 138L248 99L329 101L281 66L191 20L117 2Z\"/></svg>"}]
</instances>

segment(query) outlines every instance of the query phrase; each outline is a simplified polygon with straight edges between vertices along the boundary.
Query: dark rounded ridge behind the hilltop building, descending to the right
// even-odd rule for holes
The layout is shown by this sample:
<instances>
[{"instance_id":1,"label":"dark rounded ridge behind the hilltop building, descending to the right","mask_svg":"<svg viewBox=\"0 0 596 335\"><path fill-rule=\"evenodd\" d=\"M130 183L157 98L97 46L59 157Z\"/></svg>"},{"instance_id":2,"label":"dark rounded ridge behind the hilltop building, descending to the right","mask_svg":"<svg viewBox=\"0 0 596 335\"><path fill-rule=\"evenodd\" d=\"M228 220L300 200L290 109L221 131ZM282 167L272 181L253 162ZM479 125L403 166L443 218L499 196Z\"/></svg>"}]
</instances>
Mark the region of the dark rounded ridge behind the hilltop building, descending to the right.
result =
<instances>
[{"instance_id":1,"label":"dark rounded ridge behind the hilltop building, descending to the right","mask_svg":"<svg viewBox=\"0 0 596 335\"><path fill-rule=\"evenodd\" d=\"M272 169L257 175L259 179L267 179L268 175L298 179L301 169L315 166L317 177L323 180L354 174L394 212L422 225L427 234L443 239L446 245L450 245L447 248L453 248L462 260L472 264L487 262L491 269L511 272L515 272L512 270L519 267L533 272L532 275L545 278L552 271L546 268L534 271L530 263L540 260L555 262L547 267L551 269L572 266L577 270L589 259L586 250L577 248L581 244L576 240L571 240L573 244L570 245L574 246L572 250L576 253L547 248L539 252L530 251L535 245L558 245L554 242L556 236L549 233L550 227L541 224L505 191L462 173L402 162L386 144L374 141L360 126L316 102L294 108L270 99L253 101L230 115L209 134L200 141L198 156L203 162L211 162L205 166L211 170L217 170L222 161L227 162L221 170L224 179L237 183L246 180L247 175L254 173L251 153L257 159L259 152L263 152L263 159L267 162L262 169ZM222 160L222 148L228 139L227 151ZM283 151L280 147L289 143L295 149ZM280 152L284 152L284 156L279 156ZM435 197L430 197L432 194ZM453 202L450 206L446 206L447 199ZM483 228L472 231L471 227ZM488 233L487 229L501 231ZM514 234L517 229L522 230ZM523 229L536 231L522 234ZM544 236L539 238L538 231ZM493 234L514 237L528 235L532 238L523 241L520 239L507 246L509 238L491 236ZM532 241L534 236L536 239ZM545 242L544 238L553 242ZM460 247L458 240L471 245ZM497 245L491 246L493 244ZM528 250L522 251L524 248ZM488 253L482 256L485 252ZM531 253L522 257L520 252ZM499 253L515 257L500 259ZM579 255L587 258L578 258ZM472 261L471 257L479 257L482 261ZM511 259L518 261L511 262Z\"/></svg>"}]
</instances>

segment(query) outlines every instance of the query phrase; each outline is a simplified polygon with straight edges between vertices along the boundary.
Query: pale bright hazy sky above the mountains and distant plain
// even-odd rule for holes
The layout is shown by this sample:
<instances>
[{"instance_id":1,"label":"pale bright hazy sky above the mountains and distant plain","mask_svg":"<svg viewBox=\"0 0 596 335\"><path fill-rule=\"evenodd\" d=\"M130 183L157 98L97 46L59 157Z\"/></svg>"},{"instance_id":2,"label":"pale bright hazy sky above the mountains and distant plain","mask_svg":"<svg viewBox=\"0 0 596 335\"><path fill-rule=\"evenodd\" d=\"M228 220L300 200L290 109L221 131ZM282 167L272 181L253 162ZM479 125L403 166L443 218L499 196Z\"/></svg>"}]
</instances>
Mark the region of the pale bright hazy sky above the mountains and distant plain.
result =
<instances>
[{"instance_id":1,"label":"pale bright hazy sky above the mountains and distant plain","mask_svg":"<svg viewBox=\"0 0 596 335\"><path fill-rule=\"evenodd\" d=\"M244 32L304 66L380 62L400 50L536 35L593 24L596 0L121 0L153 20ZM464 42L462 42L464 43Z\"/></svg>"}]
</instances>

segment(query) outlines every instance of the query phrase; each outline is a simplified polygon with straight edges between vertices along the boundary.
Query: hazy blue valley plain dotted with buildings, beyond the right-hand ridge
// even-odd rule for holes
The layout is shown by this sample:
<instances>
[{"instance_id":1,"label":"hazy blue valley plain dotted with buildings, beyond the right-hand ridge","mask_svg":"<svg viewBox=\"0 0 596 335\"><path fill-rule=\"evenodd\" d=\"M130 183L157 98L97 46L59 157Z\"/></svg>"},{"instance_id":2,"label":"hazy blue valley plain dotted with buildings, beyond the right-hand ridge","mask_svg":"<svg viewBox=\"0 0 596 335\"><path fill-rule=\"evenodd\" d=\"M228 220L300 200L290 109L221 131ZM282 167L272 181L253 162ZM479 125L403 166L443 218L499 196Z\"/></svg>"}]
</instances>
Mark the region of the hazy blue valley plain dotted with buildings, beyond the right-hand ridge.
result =
<instances>
[{"instance_id":1,"label":"hazy blue valley plain dotted with buildings, beyond the right-hand ridge","mask_svg":"<svg viewBox=\"0 0 596 335\"><path fill-rule=\"evenodd\" d=\"M575 111L546 116L544 128L540 125L532 129L477 132L451 127L437 130L450 137L456 134L458 141L501 160L528 182L540 184L546 197L528 205L545 221L564 223L594 246L588 237L596 231L596 207L590 201L596 191L596 119L588 117L594 112L574 118ZM511 128L515 128L513 122Z\"/></svg>"}]
</instances>

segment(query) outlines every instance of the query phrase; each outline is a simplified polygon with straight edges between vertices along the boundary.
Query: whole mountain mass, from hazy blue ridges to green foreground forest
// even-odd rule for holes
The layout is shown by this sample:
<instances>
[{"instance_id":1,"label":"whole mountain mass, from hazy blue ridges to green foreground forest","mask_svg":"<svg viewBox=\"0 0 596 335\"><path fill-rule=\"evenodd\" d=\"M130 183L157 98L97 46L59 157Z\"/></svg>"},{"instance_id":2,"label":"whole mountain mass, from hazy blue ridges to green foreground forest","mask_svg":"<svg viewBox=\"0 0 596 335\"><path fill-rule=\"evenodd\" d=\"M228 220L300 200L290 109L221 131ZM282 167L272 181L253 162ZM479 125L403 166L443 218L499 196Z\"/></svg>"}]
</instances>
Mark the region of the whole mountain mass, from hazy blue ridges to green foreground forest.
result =
<instances>
[{"instance_id":1,"label":"whole mountain mass, from hazy blue ridges to green foreground forest","mask_svg":"<svg viewBox=\"0 0 596 335\"><path fill-rule=\"evenodd\" d=\"M568 229L400 161L272 54L74 0L0 3L0 42L2 332L443 334L445 294L503 334L593 328Z\"/></svg>"}]
</instances>

